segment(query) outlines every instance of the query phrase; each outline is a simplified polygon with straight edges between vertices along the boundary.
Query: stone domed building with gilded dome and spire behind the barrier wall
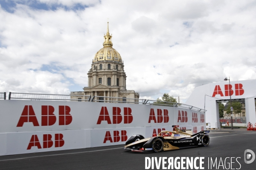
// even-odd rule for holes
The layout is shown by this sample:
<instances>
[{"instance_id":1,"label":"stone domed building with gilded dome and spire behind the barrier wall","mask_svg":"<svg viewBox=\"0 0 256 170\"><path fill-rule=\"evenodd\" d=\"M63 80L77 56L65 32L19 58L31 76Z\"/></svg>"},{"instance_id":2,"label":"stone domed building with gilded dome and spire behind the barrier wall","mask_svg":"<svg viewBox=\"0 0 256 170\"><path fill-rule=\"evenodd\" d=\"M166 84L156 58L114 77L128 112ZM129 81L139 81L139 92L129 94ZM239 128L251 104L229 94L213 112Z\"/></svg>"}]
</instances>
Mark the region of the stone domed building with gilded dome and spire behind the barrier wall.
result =
<instances>
[{"instance_id":1,"label":"stone domed building with gilded dome and spire behind the barrier wall","mask_svg":"<svg viewBox=\"0 0 256 170\"><path fill-rule=\"evenodd\" d=\"M126 74L121 55L112 48L112 35L104 34L103 48L94 56L88 71L88 87L84 91L71 92L71 95L107 96L139 99L134 90L126 90ZM103 97L99 97L103 100Z\"/></svg>"}]
</instances>

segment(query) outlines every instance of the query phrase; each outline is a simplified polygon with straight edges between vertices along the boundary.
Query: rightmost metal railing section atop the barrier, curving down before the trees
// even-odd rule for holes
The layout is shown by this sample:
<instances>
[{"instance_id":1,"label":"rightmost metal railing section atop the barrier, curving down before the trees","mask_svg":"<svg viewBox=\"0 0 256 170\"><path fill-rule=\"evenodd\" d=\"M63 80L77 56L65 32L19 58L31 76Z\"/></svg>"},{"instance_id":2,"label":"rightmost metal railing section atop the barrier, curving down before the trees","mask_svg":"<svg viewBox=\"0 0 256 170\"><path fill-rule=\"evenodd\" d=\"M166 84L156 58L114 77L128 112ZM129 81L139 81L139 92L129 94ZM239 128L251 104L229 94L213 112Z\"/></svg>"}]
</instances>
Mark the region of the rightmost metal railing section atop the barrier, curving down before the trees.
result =
<instances>
[{"instance_id":1,"label":"rightmost metal railing section atop the barrier, curving down before the trees","mask_svg":"<svg viewBox=\"0 0 256 170\"><path fill-rule=\"evenodd\" d=\"M195 106L191 105L185 105L182 103L175 103L175 102L163 102L163 101L157 101L157 100L146 100L145 103L146 105L161 105L161 106L169 106L169 107L178 107L178 108L187 108L191 109L193 111L199 111L199 112L206 112L207 110L197 108Z\"/></svg>"}]
</instances>

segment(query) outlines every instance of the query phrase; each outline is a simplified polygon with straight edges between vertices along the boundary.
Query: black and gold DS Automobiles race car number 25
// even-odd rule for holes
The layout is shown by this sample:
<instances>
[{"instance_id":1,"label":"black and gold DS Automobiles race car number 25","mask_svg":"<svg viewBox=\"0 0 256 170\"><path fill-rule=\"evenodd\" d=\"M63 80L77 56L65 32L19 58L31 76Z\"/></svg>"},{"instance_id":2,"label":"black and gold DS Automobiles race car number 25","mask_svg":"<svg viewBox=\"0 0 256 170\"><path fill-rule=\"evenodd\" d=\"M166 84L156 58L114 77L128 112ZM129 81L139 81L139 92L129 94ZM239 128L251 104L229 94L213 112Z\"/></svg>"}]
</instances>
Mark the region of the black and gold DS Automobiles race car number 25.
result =
<instances>
[{"instance_id":1,"label":"black and gold DS Automobiles race car number 25","mask_svg":"<svg viewBox=\"0 0 256 170\"><path fill-rule=\"evenodd\" d=\"M179 125L173 125L173 131L163 130L157 136L144 138L133 135L125 143L124 149L135 152L176 150L185 147L208 146L210 142L209 130L192 133L192 130L180 130Z\"/></svg>"}]
</instances>

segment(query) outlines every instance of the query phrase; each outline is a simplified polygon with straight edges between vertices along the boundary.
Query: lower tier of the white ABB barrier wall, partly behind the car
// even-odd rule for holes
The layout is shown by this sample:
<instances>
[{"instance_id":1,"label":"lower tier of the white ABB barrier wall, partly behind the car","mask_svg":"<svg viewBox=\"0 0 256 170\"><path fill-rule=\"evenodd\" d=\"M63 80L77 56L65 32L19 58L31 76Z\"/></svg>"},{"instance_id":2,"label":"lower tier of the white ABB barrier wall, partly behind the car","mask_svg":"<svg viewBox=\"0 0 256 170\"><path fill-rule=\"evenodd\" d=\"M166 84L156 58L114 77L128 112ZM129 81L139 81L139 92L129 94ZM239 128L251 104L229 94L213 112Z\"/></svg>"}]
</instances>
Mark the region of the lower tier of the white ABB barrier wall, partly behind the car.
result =
<instances>
[{"instance_id":1,"label":"lower tier of the white ABB barrier wall, partly behind the car","mask_svg":"<svg viewBox=\"0 0 256 170\"><path fill-rule=\"evenodd\" d=\"M187 128L189 127L189 128ZM191 128L190 128L191 127ZM195 133L204 126L186 126ZM162 130L172 131L171 126L133 127L91 130L55 130L41 132L0 133L0 156L22 153L69 150L124 144L135 134L145 138L157 135ZM183 127L180 127L183 129Z\"/></svg>"}]
</instances>

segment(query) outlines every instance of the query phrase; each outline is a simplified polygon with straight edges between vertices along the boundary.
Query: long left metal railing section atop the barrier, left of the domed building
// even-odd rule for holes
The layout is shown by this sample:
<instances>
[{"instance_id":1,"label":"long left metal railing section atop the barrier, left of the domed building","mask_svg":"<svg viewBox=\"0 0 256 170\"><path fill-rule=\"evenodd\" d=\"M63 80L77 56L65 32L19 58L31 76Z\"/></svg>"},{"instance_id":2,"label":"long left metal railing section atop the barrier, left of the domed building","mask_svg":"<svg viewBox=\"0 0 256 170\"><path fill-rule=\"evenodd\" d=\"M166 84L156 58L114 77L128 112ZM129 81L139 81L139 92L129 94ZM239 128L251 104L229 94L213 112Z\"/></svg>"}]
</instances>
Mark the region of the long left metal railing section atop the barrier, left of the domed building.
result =
<instances>
[{"instance_id":1,"label":"long left metal railing section atop the barrier, left of the domed building","mask_svg":"<svg viewBox=\"0 0 256 170\"><path fill-rule=\"evenodd\" d=\"M90 101L91 96L87 95L65 95L65 94L32 94L32 93L13 93L9 92L9 100L66 100L66 101Z\"/></svg>"}]
</instances>

